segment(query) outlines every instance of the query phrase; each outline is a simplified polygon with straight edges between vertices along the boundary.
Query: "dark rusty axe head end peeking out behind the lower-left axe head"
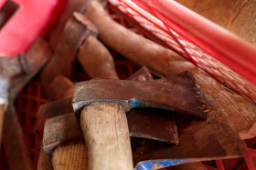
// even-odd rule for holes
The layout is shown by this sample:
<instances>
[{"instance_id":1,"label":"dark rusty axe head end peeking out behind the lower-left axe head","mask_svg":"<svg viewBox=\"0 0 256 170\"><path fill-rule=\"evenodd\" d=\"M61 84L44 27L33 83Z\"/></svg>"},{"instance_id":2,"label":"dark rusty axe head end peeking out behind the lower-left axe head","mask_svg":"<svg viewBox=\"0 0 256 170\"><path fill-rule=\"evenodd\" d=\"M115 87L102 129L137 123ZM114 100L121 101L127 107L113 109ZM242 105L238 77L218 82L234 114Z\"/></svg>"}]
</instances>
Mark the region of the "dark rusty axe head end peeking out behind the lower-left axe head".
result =
<instances>
[{"instance_id":1,"label":"dark rusty axe head end peeking out behind the lower-left axe head","mask_svg":"<svg viewBox=\"0 0 256 170\"><path fill-rule=\"evenodd\" d=\"M73 112L71 98L61 99L45 105L41 105L37 114L35 130L38 135L43 136L43 130L46 120L59 115L65 115Z\"/></svg>"}]
</instances>

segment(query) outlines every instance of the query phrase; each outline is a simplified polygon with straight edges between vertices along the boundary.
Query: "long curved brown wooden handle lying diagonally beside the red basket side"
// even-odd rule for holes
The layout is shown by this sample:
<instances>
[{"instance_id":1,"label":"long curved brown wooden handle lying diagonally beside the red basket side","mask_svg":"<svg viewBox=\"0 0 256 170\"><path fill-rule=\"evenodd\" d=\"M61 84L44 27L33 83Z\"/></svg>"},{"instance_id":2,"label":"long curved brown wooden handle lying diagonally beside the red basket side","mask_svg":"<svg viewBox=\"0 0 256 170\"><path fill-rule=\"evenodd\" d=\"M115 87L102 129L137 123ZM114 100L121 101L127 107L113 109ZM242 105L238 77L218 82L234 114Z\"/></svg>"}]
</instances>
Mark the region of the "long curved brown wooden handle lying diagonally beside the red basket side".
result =
<instances>
[{"instance_id":1,"label":"long curved brown wooden handle lying diagonally beside the red basket side","mask_svg":"<svg viewBox=\"0 0 256 170\"><path fill-rule=\"evenodd\" d=\"M118 54L138 65L147 66L151 70L157 70L161 65L160 69L165 68L163 71L172 73L172 75L187 71L189 67L194 67L189 62L180 62L184 61L184 58L173 51L114 22L97 1L90 2L85 15L97 26L100 32L99 37L104 45L108 45Z\"/></svg>"}]
</instances>

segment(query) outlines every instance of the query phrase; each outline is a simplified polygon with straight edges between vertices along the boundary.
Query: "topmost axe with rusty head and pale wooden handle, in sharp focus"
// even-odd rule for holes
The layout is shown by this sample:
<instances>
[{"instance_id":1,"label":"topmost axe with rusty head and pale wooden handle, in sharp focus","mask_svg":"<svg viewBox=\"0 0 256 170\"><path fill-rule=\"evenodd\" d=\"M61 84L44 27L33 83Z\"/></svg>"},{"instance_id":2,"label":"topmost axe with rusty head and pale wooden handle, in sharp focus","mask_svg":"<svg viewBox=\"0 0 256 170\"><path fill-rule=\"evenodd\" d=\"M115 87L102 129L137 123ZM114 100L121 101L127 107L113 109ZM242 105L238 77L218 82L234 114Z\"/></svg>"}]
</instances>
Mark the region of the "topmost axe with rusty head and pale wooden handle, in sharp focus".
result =
<instances>
[{"instance_id":1,"label":"topmost axe with rusty head and pale wooden handle, in sharp focus","mask_svg":"<svg viewBox=\"0 0 256 170\"><path fill-rule=\"evenodd\" d=\"M81 113L89 168L133 168L125 111L156 107L206 118L208 110L199 102L201 97L188 72L146 82L102 79L76 84L72 106ZM111 164L111 160L116 161Z\"/></svg>"}]
</instances>

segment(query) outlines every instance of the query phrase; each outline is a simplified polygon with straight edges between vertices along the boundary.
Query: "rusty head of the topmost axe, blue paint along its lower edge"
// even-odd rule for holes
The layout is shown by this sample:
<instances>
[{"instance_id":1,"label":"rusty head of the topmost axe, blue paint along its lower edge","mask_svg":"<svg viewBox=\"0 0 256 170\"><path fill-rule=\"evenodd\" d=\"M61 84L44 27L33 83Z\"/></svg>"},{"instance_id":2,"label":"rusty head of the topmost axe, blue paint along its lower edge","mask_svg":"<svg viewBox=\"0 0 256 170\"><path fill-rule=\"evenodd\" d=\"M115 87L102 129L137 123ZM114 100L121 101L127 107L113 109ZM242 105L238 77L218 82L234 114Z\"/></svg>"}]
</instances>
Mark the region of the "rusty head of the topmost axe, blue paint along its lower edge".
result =
<instances>
[{"instance_id":1,"label":"rusty head of the topmost axe, blue paint along its lower edge","mask_svg":"<svg viewBox=\"0 0 256 170\"><path fill-rule=\"evenodd\" d=\"M189 72L154 81L91 80L75 85L75 111L95 101L118 102L125 111L133 107L156 107L206 119L204 96Z\"/></svg>"}]
</instances>

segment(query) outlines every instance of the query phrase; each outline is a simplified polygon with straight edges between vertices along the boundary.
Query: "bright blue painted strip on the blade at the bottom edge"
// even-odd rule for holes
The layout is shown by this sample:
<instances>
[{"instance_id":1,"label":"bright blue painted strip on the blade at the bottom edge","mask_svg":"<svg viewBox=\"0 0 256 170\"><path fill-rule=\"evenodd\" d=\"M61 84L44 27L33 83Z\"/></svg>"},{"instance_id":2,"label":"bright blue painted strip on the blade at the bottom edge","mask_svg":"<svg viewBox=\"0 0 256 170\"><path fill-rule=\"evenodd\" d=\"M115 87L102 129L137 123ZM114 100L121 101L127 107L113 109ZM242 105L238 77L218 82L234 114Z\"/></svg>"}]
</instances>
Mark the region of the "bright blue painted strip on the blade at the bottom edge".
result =
<instances>
[{"instance_id":1,"label":"bright blue painted strip on the blade at the bottom edge","mask_svg":"<svg viewBox=\"0 0 256 170\"><path fill-rule=\"evenodd\" d=\"M153 161L143 161L139 162L135 166L135 170L151 170L152 167L164 168L172 165L186 164L186 159L163 159L163 160L153 160Z\"/></svg>"}]
</instances>

